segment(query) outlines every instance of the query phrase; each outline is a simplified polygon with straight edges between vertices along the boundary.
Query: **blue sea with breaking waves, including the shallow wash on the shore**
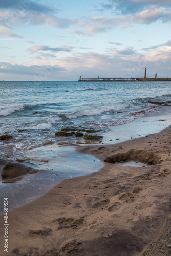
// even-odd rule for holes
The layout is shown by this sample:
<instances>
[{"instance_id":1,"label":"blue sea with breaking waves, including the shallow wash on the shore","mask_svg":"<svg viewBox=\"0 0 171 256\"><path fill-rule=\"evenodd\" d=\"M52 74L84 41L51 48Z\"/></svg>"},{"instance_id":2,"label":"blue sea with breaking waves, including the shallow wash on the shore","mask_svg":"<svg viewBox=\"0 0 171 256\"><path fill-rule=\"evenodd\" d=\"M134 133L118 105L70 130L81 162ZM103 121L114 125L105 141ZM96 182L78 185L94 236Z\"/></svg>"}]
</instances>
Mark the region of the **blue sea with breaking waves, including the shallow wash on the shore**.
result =
<instances>
[{"instance_id":1,"label":"blue sea with breaking waves, including the shallow wash on the shore","mask_svg":"<svg viewBox=\"0 0 171 256\"><path fill-rule=\"evenodd\" d=\"M0 158L27 161L41 171L18 191L12 186L20 184L21 179L1 180L0 195L10 193L11 209L19 207L42 196L37 191L43 185L48 190L62 179L103 167L93 156L76 153L75 147L114 144L160 132L171 123L170 89L171 82L167 81L1 81L0 135L8 134L13 139L0 141ZM96 129L103 139L90 142L74 135L55 136L63 126ZM35 193L33 185L38 188Z\"/></svg>"}]
</instances>

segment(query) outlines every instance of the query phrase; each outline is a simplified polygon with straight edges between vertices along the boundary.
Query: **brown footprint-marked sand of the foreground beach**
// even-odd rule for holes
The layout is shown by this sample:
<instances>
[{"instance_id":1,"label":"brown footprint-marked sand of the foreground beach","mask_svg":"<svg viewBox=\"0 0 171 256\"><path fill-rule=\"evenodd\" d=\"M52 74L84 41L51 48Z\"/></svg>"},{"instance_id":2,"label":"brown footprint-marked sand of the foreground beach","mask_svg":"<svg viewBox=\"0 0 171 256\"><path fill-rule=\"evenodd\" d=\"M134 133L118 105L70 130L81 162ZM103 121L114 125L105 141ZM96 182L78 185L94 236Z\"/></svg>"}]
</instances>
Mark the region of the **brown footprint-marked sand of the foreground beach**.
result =
<instances>
[{"instance_id":1,"label":"brown footprint-marked sand of the foreground beach","mask_svg":"<svg viewBox=\"0 0 171 256\"><path fill-rule=\"evenodd\" d=\"M3 253L2 239L1 255L138 256L148 246L144 255L163 255L150 243L170 226L171 126L145 138L78 150L108 162L99 172L65 180L10 211L9 252ZM150 165L112 164L120 160ZM0 220L2 227L3 216ZM3 238L3 228L0 232ZM170 255L167 238L164 255Z\"/></svg>"}]
</instances>

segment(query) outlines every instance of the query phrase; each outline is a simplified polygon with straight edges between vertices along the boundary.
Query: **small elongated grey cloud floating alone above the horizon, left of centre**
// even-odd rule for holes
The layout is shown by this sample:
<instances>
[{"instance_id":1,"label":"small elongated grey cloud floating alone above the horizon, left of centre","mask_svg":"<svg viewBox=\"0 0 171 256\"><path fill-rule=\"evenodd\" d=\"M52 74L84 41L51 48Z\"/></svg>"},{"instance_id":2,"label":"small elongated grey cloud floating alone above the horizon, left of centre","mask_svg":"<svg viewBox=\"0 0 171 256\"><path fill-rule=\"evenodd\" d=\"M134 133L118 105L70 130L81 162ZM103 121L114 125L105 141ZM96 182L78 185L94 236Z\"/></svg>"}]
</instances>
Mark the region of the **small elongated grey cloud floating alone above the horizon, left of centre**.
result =
<instances>
[{"instance_id":1,"label":"small elongated grey cloud floating alone above the horizon, left of centre","mask_svg":"<svg viewBox=\"0 0 171 256\"><path fill-rule=\"evenodd\" d=\"M35 46L32 46L28 49L28 51L30 53L35 53L35 52L39 52L39 51L50 51L50 52L70 52L72 51L74 47L70 46L70 47L67 47L67 46L62 46L62 47L49 47L49 46L43 46L43 45L35 45Z\"/></svg>"}]
</instances>

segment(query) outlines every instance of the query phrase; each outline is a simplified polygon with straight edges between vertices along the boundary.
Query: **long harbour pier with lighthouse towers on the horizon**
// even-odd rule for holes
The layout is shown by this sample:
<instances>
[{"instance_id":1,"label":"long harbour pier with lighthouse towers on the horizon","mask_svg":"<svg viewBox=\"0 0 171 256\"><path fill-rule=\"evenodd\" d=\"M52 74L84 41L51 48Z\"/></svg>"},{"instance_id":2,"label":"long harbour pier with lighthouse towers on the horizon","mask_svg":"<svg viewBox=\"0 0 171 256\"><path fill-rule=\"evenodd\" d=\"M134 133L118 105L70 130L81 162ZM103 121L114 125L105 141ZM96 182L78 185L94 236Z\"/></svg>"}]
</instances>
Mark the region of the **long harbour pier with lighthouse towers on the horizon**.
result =
<instances>
[{"instance_id":1,"label":"long harbour pier with lighthouse towers on the horizon","mask_svg":"<svg viewBox=\"0 0 171 256\"><path fill-rule=\"evenodd\" d=\"M82 78L81 76L78 79L78 82L153 82L153 81L171 81L171 78L157 78L157 73L155 74L155 78L146 77L147 69L144 69L144 77L141 78Z\"/></svg>"}]
</instances>

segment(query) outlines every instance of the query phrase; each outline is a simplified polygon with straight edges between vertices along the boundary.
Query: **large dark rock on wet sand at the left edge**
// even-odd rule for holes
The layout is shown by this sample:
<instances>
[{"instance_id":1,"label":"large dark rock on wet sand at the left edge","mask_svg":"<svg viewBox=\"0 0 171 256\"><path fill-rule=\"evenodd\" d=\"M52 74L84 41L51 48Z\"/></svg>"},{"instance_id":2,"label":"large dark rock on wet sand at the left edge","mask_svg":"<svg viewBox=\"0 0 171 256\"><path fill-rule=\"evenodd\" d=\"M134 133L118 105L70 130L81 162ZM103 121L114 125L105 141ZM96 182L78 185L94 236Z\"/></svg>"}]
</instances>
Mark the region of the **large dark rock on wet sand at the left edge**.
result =
<instances>
[{"instance_id":1,"label":"large dark rock on wet sand at the left edge","mask_svg":"<svg viewBox=\"0 0 171 256\"><path fill-rule=\"evenodd\" d=\"M8 162L2 169L1 176L3 179L11 179L27 173L34 174L38 171L21 163Z\"/></svg>"}]
</instances>

